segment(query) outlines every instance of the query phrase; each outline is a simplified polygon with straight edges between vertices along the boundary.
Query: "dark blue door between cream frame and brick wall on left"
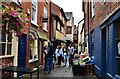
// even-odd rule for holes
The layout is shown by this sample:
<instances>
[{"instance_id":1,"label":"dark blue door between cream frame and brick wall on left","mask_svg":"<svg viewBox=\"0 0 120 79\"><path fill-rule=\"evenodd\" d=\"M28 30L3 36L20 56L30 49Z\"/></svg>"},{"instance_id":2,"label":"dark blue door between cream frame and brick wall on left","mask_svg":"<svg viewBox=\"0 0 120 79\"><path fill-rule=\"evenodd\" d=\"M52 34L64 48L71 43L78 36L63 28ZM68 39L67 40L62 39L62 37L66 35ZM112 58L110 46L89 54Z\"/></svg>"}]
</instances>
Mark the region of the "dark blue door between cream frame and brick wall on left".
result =
<instances>
[{"instance_id":1,"label":"dark blue door between cream frame and brick wall on left","mask_svg":"<svg viewBox=\"0 0 120 79\"><path fill-rule=\"evenodd\" d=\"M19 38L18 45L18 67L26 66L26 35L23 34L22 37ZM22 73L18 73L18 76L21 76Z\"/></svg>"}]
</instances>

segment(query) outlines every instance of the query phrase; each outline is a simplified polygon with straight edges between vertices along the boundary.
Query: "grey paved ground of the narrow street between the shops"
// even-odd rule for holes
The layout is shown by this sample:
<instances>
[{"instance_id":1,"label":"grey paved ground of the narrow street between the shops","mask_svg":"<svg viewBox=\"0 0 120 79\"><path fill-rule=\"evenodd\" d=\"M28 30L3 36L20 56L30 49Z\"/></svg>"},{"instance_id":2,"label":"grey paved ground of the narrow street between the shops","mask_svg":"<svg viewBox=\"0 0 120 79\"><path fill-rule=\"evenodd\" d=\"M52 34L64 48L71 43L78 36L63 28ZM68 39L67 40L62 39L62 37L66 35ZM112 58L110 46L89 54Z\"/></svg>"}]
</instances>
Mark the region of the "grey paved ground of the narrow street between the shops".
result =
<instances>
[{"instance_id":1,"label":"grey paved ground of the narrow street between the shops","mask_svg":"<svg viewBox=\"0 0 120 79\"><path fill-rule=\"evenodd\" d=\"M44 70L41 69L40 71L40 77L43 78L47 78L47 77L60 77L60 78L73 78L73 79L76 79L76 78L79 78L79 79L97 79L96 76L74 76L73 75L73 72L72 72L72 67L55 67L53 69L53 71L50 73L50 74L45 74L44 73Z\"/></svg>"}]
</instances>

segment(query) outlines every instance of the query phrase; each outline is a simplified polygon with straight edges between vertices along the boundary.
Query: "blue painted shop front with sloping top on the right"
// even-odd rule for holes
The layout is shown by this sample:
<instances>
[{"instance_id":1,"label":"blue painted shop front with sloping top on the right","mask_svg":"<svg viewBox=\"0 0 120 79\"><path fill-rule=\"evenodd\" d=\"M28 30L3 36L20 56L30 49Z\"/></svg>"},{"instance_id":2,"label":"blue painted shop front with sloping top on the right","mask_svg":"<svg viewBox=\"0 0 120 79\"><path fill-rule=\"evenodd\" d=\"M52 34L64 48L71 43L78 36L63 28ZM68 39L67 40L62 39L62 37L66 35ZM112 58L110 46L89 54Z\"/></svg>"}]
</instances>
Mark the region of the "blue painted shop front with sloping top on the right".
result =
<instances>
[{"instance_id":1,"label":"blue painted shop front with sloping top on the right","mask_svg":"<svg viewBox=\"0 0 120 79\"><path fill-rule=\"evenodd\" d=\"M89 51L94 56L96 75L107 79L120 78L120 10L96 26L89 36Z\"/></svg>"}]
</instances>

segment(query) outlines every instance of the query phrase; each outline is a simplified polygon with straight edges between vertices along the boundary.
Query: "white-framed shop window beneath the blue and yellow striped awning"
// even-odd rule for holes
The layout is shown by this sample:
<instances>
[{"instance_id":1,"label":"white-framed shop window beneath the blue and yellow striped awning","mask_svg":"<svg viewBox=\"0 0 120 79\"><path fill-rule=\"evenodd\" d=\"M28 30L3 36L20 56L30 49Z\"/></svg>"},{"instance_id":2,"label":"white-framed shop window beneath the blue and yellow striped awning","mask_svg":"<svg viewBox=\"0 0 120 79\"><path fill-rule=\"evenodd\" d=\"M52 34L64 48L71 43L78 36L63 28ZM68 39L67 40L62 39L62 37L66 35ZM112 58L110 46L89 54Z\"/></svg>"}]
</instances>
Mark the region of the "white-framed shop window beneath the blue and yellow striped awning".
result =
<instances>
[{"instance_id":1,"label":"white-framed shop window beneath the blue and yellow striped awning","mask_svg":"<svg viewBox=\"0 0 120 79\"><path fill-rule=\"evenodd\" d=\"M38 60L38 40L31 39L30 40L30 60L29 62L33 62Z\"/></svg>"}]
</instances>

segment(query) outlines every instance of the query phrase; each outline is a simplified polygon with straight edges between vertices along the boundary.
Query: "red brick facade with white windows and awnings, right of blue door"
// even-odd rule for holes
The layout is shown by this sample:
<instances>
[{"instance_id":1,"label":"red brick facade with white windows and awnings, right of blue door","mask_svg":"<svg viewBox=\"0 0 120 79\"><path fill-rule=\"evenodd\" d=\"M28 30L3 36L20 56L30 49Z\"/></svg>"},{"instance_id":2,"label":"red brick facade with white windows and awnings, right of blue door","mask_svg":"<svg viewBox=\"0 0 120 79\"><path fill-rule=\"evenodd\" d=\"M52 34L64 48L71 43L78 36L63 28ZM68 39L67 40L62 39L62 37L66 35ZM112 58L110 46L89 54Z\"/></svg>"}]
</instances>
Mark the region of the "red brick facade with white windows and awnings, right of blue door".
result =
<instances>
[{"instance_id":1,"label":"red brick facade with white windows and awnings, right of blue door","mask_svg":"<svg viewBox=\"0 0 120 79\"><path fill-rule=\"evenodd\" d=\"M47 0L36 0L36 2L22 2L22 6L26 9L24 12L30 10L30 15L28 15L30 18L30 32L27 37L26 66L34 67L44 64L43 46L44 42L49 39L50 5ZM33 34L33 30L38 33L37 39L29 37L29 35L32 36L31 34ZM37 57L32 55L37 55Z\"/></svg>"}]
</instances>

